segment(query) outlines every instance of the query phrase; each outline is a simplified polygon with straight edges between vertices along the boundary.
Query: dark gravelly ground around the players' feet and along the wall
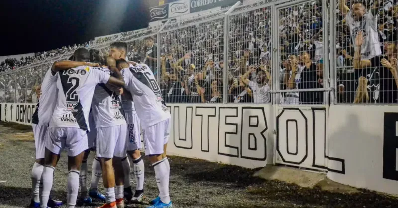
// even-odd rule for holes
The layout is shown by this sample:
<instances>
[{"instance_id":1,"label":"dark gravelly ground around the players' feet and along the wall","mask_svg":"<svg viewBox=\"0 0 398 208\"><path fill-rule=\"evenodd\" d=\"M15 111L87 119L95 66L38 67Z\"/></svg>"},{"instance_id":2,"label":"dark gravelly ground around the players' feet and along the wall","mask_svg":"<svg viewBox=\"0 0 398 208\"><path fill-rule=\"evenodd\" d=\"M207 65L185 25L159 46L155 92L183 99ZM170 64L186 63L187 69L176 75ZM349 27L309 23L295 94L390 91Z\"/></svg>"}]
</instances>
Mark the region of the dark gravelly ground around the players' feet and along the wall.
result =
<instances>
[{"instance_id":1,"label":"dark gravelly ground around the players' feet and along the wall","mask_svg":"<svg viewBox=\"0 0 398 208\"><path fill-rule=\"evenodd\" d=\"M0 208L23 208L30 202L30 171L34 163L34 142L15 140L12 135L26 133L0 125ZM6 133L4 133L6 132ZM22 136L24 137L24 136ZM1 147L0 147L1 148ZM90 155L88 178L91 177ZM127 208L145 208L158 194L155 174L145 161L144 204ZM171 166L170 195L175 208L397 208L398 199L368 190L355 193L323 191L318 186L305 188L280 180L255 177L259 169L217 164L203 160L169 157ZM66 201L66 155L62 154L56 171L52 195ZM131 178L133 174L131 174ZM270 178L272 179L272 178ZM307 177L301 183L318 179ZM100 183L100 187L103 187ZM101 191L103 189L100 188ZM99 206L94 202L87 208Z\"/></svg>"}]
</instances>

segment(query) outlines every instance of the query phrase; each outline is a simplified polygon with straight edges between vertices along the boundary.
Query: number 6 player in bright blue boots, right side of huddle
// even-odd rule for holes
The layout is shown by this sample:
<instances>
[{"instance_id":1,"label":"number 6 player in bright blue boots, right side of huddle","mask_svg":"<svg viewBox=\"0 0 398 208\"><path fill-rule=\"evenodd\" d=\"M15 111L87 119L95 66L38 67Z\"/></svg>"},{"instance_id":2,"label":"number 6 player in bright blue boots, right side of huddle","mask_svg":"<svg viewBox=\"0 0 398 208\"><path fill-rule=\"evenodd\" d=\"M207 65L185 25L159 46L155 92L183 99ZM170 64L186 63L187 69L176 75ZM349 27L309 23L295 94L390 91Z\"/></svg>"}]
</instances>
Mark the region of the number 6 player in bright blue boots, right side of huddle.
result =
<instances>
[{"instance_id":1,"label":"number 6 player in bright blue boots, right side of huddle","mask_svg":"<svg viewBox=\"0 0 398 208\"><path fill-rule=\"evenodd\" d=\"M148 208L172 207L169 195L170 165L165 155L170 134L170 112L164 104L159 85L148 65L135 63L133 67L123 68L127 66L124 59L119 59L116 63L142 121L145 154L149 156L155 169L159 197L152 200L153 205Z\"/></svg>"}]
</instances>

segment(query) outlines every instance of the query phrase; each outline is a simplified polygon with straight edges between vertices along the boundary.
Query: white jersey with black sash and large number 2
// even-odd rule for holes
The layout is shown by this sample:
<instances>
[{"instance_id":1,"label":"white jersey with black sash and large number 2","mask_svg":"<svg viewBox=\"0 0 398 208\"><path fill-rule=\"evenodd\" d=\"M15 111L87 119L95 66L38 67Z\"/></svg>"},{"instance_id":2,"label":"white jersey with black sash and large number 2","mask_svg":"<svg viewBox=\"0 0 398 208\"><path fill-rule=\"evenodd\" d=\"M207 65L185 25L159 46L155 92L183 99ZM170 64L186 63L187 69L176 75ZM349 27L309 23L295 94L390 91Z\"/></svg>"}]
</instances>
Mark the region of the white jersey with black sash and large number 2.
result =
<instances>
[{"instance_id":1,"label":"white jersey with black sash and large number 2","mask_svg":"<svg viewBox=\"0 0 398 208\"><path fill-rule=\"evenodd\" d=\"M89 112L94 89L107 83L110 75L102 68L80 66L58 73L58 100L50 127L89 130Z\"/></svg>"}]
</instances>

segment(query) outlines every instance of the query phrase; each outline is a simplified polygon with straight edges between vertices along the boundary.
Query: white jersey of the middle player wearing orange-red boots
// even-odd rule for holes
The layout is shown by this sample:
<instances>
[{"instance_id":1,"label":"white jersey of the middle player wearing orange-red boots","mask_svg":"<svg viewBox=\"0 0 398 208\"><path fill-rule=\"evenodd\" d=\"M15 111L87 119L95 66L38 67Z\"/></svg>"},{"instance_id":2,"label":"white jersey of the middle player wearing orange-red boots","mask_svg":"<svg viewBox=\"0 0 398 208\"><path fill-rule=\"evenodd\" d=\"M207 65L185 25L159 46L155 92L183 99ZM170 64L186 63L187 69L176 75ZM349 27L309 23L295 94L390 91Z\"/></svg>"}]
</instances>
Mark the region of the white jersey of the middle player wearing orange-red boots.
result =
<instances>
[{"instance_id":1,"label":"white jersey of the middle player wearing orange-red boots","mask_svg":"<svg viewBox=\"0 0 398 208\"><path fill-rule=\"evenodd\" d=\"M101 70L110 75L108 68ZM96 86L91 108L96 128L126 124L124 113L121 111L119 96L106 87L104 83Z\"/></svg>"}]
</instances>

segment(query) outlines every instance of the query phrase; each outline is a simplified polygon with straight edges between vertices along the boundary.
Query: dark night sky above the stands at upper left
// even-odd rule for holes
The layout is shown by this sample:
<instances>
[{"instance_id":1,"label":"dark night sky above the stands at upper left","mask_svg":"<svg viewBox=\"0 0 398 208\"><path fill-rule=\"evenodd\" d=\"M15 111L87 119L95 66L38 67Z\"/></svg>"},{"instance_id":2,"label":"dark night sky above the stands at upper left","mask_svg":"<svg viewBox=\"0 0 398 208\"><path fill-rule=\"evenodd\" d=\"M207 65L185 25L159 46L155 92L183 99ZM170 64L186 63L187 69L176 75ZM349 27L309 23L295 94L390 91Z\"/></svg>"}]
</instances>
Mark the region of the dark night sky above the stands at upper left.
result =
<instances>
[{"instance_id":1,"label":"dark night sky above the stands at upper left","mask_svg":"<svg viewBox=\"0 0 398 208\"><path fill-rule=\"evenodd\" d=\"M0 56L82 44L148 26L159 0L1 0Z\"/></svg>"}]
</instances>

